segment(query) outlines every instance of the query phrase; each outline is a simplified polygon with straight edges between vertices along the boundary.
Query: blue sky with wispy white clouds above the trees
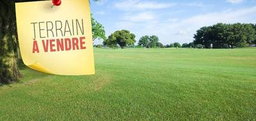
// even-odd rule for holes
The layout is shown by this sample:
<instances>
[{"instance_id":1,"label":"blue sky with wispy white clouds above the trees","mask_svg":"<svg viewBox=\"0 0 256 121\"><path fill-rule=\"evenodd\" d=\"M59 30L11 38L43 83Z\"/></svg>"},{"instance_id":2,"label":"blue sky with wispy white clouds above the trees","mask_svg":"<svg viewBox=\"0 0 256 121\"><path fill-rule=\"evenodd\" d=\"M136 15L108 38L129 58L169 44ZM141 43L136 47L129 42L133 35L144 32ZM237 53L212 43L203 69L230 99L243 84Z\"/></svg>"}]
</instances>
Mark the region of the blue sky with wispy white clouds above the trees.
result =
<instances>
[{"instance_id":1,"label":"blue sky with wispy white clouds above the trees","mask_svg":"<svg viewBox=\"0 0 256 121\"><path fill-rule=\"evenodd\" d=\"M136 35L136 43L145 35L158 36L164 45L189 43L203 26L256 24L256 0L101 0L91 2L91 11L107 37L127 29Z\"/></svg>"}]
</instances>

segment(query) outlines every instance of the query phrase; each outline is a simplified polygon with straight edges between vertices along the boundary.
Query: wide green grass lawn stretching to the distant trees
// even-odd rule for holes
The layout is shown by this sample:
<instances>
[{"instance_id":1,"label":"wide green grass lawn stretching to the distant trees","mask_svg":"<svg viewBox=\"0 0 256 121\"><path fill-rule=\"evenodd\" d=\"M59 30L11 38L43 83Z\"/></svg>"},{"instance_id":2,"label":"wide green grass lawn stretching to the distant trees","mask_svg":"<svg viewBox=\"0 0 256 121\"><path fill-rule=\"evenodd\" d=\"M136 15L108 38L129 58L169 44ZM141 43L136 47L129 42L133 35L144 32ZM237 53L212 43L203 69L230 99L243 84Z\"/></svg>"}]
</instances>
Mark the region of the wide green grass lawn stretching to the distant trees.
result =
<instances>
[{"instance_id":1,"label":"wide green grass lawn stretching to the distant trees","mask_svg":"<svg viewBox=\"0 0 256 121\"><path fill-rule=\"evenodd\" d=\"M96 75L20 64L0 120L256 120L256 48L95 49Z\"/></svg>"}]
</instances>

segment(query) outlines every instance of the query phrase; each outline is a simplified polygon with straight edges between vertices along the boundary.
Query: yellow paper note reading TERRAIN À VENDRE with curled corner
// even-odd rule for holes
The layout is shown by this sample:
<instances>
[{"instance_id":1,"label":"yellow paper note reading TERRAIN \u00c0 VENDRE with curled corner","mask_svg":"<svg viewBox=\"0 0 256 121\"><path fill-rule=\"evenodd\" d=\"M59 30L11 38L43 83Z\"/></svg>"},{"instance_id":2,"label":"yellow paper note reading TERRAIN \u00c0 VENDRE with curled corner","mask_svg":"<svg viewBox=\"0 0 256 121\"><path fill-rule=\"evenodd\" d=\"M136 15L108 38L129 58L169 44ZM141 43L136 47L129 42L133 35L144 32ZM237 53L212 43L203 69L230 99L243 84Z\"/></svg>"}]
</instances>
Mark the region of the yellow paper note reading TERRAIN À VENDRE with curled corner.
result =
<instances>
[{"instance_id":1,"label":"yellow paper note reading TERRAIN \u00c0 VENDRE with curled corner","mask_svg":"<svg viewBox=\"0 0 256 121\"><path fill-rule=\"evenodd\" d=\"M55 75L95 74L87 0L16 3L20 54L29 68Z\"/></svg>"}]
</instances>

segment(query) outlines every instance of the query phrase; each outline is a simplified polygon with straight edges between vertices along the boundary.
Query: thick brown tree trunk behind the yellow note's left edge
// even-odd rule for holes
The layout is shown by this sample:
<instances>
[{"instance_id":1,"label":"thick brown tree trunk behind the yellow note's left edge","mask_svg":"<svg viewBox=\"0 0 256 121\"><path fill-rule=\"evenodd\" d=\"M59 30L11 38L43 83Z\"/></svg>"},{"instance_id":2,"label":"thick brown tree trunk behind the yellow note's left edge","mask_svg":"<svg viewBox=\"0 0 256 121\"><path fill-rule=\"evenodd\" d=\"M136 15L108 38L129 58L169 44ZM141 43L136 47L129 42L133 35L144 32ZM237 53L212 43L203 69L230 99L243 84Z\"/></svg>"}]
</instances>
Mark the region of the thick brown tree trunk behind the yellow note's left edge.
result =
<instances>
[{"instance_id":1,"label":"thick brown tree trunk behind the yellow note's left edge","mask_svg":"<svg viewBox=\"0 0 256 121\"><path fill-rule=\"evenodd\" d=\"M18 69L15 1L0 1L0 83L15 82Z\"/></svg>"}]
</instances>

